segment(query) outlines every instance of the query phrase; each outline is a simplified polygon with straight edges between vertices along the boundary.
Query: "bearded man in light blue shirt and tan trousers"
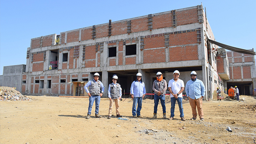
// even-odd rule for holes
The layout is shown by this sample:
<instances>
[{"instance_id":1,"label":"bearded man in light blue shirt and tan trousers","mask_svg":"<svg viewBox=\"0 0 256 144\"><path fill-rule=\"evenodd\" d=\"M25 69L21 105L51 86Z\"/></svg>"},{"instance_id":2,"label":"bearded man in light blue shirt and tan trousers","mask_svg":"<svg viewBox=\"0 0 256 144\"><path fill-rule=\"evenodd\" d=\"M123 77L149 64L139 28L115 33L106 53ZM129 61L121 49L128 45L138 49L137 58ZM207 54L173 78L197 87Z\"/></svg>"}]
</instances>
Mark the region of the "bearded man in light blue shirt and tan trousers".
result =
<instances>
[{"instance_id":1,"label":"bearded man in light blue shirt and tan trousers","mask_svg":"<svg viewBox=\"0 0 256 144\"><path fill-rule=\"evenodd\" d=\"M204 121L204 113L203 113L203 99L205 95L205 86L204 83L196 79L196 72L192 71L190 76L191 80L189 80L186 84L185 90L186 94L189 97L189 104L192 108L192 115L193 117L191 120L196 120L196 107L198 111L198 115L201 121Z\"/></svg>"}]
</instances>

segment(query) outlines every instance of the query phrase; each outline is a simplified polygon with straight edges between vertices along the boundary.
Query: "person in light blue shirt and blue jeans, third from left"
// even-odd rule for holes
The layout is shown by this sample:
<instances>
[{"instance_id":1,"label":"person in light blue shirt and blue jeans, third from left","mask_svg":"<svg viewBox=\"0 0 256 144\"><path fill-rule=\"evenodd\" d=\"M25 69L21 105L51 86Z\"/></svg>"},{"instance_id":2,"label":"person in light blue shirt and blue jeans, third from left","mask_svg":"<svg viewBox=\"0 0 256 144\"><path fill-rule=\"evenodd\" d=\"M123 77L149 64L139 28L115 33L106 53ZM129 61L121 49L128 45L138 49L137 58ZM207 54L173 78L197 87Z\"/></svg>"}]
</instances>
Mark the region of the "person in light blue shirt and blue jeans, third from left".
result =
<instances>
[{"instance_id":1,"label":"person in light blue shirt and blue jeans, third from left","mask_svg":"<svg viewBox=\"0 0 256 144\"><path fill-rule=\"evenodd\" d=\"M135 81L131 84L131 98L133 99L133 118L137 117L142 118L141 116L141 108L142 108L142 98L144 98L146 94L145 84L142 82L142 74L137 73ZM136 106L138 104L138 108L136 110Z\"/></svg>"}]
</instances>

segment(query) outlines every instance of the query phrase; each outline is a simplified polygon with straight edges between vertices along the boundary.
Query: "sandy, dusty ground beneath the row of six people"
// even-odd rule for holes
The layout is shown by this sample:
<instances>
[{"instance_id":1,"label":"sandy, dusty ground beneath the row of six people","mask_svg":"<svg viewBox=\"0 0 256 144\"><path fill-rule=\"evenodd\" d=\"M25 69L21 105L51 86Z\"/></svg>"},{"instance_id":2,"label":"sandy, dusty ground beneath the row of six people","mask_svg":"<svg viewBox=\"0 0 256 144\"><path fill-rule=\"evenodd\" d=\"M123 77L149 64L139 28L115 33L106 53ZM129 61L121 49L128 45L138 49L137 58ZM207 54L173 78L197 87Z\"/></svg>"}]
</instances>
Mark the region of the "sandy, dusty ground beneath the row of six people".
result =
<instances>
[{"instance_id":1,"label":"sandy, dusty ground beneath the row of six people","mask_svg":"<svg viewBox=\"0 0 256 144\"><path fill-rule=\"evenodd\" d=\"M191 121L188 102L183 104L185 119L162 118L158 105L158 118L152 119L154 100L143 100L141 115L132 118L132 100L120 102L121 115L107 119L109 100L101 98L100 115L85 119L89 98L60 98L54 96L28 96L31 101L0 101L1 144L252 144L256 142L256 97L245 101L230 99L204 101L204 120ZM167 115L171 104L167 103ZM235 121L235 122L234 122ZM232 132L227 131L230 127Z\"/></svg>"}]
</instances>

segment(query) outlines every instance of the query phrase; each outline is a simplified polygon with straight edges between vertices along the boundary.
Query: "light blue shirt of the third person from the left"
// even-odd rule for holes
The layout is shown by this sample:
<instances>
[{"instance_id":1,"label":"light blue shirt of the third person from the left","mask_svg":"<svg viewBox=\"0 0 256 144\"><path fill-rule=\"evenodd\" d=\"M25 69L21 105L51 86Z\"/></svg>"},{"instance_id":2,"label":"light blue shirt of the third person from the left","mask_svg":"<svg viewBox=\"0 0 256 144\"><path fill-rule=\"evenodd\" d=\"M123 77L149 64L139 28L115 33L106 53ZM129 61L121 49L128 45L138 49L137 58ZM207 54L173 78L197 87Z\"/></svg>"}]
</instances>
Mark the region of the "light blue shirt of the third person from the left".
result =
<instances>
[{"instance_id":1,"label":"light blue shirt of the third person from the left","mask_svg":"<svg viewBox=\"0 0 256 144\"><path fill-rule=\"evenodd\" d=\"M142 97L143 94L146 94L145 84L142 81L133 81L133 83L131 83L131 94L133 94L134 97Z\"/></svg>"}]
</instances>

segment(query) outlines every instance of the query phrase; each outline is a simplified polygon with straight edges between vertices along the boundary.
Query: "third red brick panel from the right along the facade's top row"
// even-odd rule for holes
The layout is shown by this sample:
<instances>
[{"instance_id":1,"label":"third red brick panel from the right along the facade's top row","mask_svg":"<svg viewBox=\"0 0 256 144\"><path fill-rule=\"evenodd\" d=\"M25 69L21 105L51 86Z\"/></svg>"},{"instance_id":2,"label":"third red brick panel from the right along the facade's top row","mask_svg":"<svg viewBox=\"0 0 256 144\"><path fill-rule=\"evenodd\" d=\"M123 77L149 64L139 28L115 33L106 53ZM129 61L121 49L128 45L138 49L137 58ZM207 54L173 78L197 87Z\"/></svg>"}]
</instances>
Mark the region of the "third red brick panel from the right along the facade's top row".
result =
<instances>
[{"instance_id":1,"label":"third red brick panel from the right along the facade's top row","mask_svg":"<svg viewBox=\"0 0 256 144\"><path fill-rule=\"evenodd\" d=\"M148 18L138 18L131 20L131 31L133 33L139 32L139 31L147 31L148 30ZM153 25L154 27L154 25Z\"/></svg>"}]
</instances>

